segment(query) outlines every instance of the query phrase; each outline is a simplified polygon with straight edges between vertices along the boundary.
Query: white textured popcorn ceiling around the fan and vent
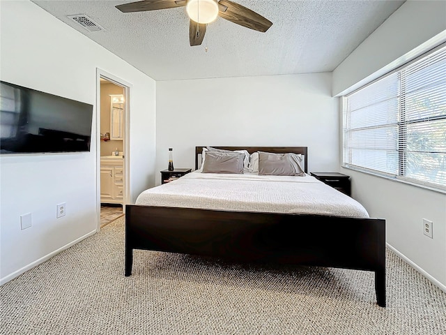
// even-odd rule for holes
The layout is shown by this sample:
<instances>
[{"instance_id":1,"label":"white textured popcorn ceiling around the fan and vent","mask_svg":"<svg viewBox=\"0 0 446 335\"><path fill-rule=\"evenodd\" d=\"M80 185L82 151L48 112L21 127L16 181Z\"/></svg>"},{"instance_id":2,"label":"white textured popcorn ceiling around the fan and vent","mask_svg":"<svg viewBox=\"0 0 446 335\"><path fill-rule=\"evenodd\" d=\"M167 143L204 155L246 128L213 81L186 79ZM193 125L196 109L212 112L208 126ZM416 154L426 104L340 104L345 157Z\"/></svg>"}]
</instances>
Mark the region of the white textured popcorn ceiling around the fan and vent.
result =
<instances>
[{"instance_id":1,"label":"white textured popcorn ceiling around the fan and vent","mask_svg":"<svg viewBox=\"0 0 446 335\"><path fill-rule=\"evenodd\" d=\"M261 33L218 17L203 44L190 47L185 7L121 13L115 6L133 1L32 1L154 80L330 72L404 3L234 0L272 27ZM105 31L66 17L77 14Z\"/></svg>"}]
</instances>

